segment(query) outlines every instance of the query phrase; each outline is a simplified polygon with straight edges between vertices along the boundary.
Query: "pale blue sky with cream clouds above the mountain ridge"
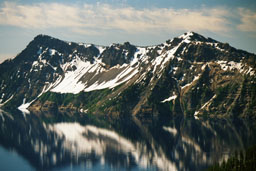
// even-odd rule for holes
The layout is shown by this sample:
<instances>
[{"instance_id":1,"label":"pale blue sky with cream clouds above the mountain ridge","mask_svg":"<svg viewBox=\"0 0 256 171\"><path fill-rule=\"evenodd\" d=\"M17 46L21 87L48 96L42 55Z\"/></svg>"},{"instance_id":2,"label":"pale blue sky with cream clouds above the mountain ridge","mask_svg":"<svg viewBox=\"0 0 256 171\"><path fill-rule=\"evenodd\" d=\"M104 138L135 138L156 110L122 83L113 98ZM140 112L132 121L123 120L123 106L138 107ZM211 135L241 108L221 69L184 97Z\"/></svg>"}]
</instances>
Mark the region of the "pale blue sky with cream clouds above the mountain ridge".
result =
<instances>
[{"instance_id":1,"label":"pale blue sky with cream clouds above the mountain ridge","mask_svg":"<svg viewBox=\"0 0 256 171\"><path fill-rule=\"evenodd\" d=\"M0 0L0 62L38 34L156 45L194 31L256 53L255 0Z\"/></svg>"}]
</instances>

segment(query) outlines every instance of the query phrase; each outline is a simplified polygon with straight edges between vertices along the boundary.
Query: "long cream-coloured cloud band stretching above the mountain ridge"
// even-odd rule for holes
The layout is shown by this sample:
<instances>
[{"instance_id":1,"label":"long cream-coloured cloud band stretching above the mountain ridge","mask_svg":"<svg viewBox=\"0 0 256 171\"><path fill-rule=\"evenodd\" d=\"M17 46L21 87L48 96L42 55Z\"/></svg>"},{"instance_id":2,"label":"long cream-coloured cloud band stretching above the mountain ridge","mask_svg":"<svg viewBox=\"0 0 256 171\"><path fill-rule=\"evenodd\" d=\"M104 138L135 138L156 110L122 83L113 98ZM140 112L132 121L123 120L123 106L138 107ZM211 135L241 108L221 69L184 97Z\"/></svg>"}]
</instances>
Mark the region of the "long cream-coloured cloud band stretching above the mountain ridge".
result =
<instances>
[{"instance_id":1,"label":"long cream-coloured cloud band stretching above the mountain ridge","mask_svg":"<svg viewBox=\"0 0 256 171\"><path fill-rule=\"evenodd\" d=\"M111 30L128 33L177 30L226 32L229 30L229 21L225 17L229 14L221 8L135 9L129 6L116 7L101 3L21 5L9 2L2 3L1 6L0 25L29 29L68 28L74 33L89 35L102 34Z\"/></svg>"}]
</instances>

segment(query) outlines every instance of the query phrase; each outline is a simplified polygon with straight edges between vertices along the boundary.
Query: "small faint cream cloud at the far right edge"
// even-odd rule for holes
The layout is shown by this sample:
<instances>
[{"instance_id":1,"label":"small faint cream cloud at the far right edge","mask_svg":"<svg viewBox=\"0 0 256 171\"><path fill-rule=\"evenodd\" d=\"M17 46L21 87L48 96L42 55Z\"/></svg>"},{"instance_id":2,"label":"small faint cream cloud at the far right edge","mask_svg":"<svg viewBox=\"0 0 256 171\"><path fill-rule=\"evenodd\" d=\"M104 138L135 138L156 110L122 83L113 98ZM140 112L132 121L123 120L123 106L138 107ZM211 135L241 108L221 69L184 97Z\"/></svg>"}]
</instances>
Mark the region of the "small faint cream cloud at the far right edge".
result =
<instances>
[{"instance_id":1,"label":"small faint cream cloud at the far right edge","mask_svg":"<svg viewBox=\"0 0 256 171\"><path fill-rule=\"evenodd\" d=\"M248 9L239 8L241 24L237 28L245 32L256 32L256 12Z\"/></svg>"}]
</instances>

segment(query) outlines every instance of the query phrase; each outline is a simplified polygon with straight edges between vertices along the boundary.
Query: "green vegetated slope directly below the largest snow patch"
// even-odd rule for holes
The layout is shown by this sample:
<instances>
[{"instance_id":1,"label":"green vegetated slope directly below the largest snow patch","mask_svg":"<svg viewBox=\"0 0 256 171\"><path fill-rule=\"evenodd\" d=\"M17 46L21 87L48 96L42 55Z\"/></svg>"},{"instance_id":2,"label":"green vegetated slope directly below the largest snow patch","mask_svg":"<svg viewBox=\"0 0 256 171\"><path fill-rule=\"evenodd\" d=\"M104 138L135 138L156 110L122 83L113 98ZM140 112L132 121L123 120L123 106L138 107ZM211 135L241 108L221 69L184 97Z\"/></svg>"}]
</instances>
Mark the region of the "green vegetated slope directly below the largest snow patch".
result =
<instances>
[{"instance_id":1,"label":"green vegetated slope directly below the largest snow patch","mask_svg":"<svg viewBox=\"0 0 256 171\"><path fill-rule=\"evenodd\" d=\"M77 109L88 109L88 113L129 113L140 99L142 86L139 84L134 84L129 86L120 95L114 98L108 96L120 87L121 85L115 87L114 89L80 92L78 94L46 92L39 98L39 101L42 104L46 103L47 101L54 102L59 107L71 105Z\"/></svg>"}]
</instances>

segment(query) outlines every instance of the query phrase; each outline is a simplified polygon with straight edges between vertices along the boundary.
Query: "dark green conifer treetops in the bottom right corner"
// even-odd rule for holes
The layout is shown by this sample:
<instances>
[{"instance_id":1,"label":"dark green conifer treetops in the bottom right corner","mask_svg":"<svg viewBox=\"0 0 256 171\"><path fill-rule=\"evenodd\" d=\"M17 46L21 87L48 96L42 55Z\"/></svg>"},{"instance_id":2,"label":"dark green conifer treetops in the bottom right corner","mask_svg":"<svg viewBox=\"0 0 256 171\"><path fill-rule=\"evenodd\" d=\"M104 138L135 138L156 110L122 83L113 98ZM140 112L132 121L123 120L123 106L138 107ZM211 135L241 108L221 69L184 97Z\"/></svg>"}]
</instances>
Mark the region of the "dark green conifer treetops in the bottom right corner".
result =
<instances>
[{"instance_id":1,"label":"dark green conifer treetops in the bottom right corner","mask_svg":"<svg viewBox=\"0 0 256 171\"><path fill-rule=\"evenodd\" d=\"M256 170L256 145L248 148L246 152L235 152L235 155L220 165L216 163L208 171L254 171Z\"/></svg>"}]
</instances>

